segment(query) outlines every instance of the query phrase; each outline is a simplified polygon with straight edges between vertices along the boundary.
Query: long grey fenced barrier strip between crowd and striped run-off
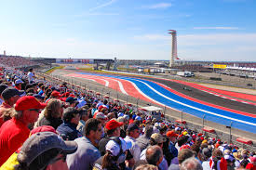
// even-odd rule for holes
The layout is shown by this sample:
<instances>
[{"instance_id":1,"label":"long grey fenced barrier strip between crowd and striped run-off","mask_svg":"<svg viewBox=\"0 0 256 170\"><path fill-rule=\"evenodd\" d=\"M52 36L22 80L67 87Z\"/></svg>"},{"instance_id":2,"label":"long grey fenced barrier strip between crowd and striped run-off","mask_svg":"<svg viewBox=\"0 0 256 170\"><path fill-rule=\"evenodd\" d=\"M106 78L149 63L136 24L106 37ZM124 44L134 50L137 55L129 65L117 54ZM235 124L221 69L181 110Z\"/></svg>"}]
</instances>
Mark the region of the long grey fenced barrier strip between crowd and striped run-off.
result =
<instances>
[{"instance_id":1,"label":"long grey fenced barrier strip between crowd and striped run-off","mask_svg":"<svg viewBox=\"0 0 256 170\"><path fill-rule=\"evenodd\" d=\"M91 96L97 98L105 98L110 102L118 102L121 106L128 107L129 104L132 104L133 110L138 111L138 108L143 106L155 105L152 102L146 102L141 100L141 98L133 98L128 95L122 94L117 91L117 89L111 89L100 85L96 82L83 79L83 82L79 80L77 77L64 77L57 74L45 74L41 72L37 72L36 75L41 76L44 80L47 80L51 85L60 86L61 83L66 82L70 89L73 89L77 92L90 94ZM155 105L159 107L158 105ZM215 137L216 139L221 138L224 141L229 141L229 143L236 144L238 147L242 147L248 150L256 150L255 142L253 145L247 145L236 141L236 134L234 131L236 129L232 128L232 122L229 126L220 126L220 124L214 124L206 120L206 115L202 115L201 117L195 117L193 115L187 114L183 111L174 111L167 107L160 107L163 109L163 113L165 115L165 120L174 124L179 124L184 128L189 128L195 130L198 133L204 133L206 136ZM180 120L176 122L177 120ZM182 124L182 122L186 121L186 124ZM215 133L209 133L202 130L202 128L206 126L214 125L220 126L220 129L215 129Z\"/></svg>"}]
</instances>

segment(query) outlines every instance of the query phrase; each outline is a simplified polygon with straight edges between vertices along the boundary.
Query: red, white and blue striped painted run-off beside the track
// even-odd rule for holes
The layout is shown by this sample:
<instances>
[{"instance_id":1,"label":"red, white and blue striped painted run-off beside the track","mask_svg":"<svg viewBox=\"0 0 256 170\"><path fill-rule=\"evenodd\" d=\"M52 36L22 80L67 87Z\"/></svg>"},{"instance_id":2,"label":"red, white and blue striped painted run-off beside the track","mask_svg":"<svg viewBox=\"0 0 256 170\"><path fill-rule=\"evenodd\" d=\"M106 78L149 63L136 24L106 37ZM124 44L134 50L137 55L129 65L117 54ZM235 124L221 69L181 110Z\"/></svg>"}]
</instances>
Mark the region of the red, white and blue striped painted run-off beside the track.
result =
<instances>
[{"instance_id":1,"label":"red, white and blue striped painted run-off beside the track","mask_svg":"<svg viewBox=\"0 0 256 170\"><path fill-rule=\"evenodd\" d=\"M172 89L171 86L164 85L158 81L144 79L142 77L129 77L123 75L90 72L67 73L64 76L84 78L86 80L95 81L101 85L113 88L134 98L140 98L141 100L149 101L176 111L183 111L199 118L204 117L204 119L217 124L228 126L232 123L232 126L237 129L256 134L256 114L254 111L238 111L212 104L199 98L192 98ZM250 101L254 101L255 96L253 95L231 92L229 93L229 97L226 97L225 93L227 92L218 89L207 89L202 85L196 86L195 84L182 81L176 81L176 83L193 86L194 88L200 89L212 96L215 96L215 98L230 99L231 102L237 103L241 102L241 104L244 104L245 106L248 105L249 107L252 107L252 109L255 107L254 102L249 102L246 100L250 99ZM236 97L237 95L239 95L239 98L244 98L245 100L232 98L233 96Z\"/></svg>"}]
</instances>

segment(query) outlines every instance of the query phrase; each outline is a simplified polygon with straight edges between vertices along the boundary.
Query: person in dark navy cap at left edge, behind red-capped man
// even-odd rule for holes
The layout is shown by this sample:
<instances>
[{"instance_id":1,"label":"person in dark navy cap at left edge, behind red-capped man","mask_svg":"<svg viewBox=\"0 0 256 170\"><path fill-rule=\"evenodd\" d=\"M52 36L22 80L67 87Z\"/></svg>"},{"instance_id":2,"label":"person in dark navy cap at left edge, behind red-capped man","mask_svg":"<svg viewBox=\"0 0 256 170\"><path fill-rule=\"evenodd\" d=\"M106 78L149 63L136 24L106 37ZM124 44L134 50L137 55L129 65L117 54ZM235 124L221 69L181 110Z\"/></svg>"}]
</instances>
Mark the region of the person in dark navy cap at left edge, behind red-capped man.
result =
<instances>
[{"instance_id":1,"label":"person in dark navy cap at left edge, behind red-capped man","mask_svg":"<svg viewBox=\"0 0 256 170\"><path fill-rule=\"evenodd\" d=\"M4 98L4 102L0 106L0 127L2 124L4 124L5 121L10 119L10 116L7 115L6 118L4 115L7 109L13 107L16 101L20 98L20 95L23 93L24 91L19 91L13 87L7 87L2 92L2 98Z\"/></svg>"}]
</instances>

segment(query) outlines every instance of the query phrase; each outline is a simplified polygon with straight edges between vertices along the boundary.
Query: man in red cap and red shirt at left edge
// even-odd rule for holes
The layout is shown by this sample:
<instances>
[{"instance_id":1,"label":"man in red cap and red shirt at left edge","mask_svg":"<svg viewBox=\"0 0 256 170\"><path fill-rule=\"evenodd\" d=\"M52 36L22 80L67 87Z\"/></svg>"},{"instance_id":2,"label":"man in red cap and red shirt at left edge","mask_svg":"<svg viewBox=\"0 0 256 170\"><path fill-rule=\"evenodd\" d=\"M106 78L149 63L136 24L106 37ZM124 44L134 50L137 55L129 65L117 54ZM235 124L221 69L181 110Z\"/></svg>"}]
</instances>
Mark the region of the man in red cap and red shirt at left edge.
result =
<instances>
[{"instance_id":1,"label":"man in red cap and red shirt at left edge","mask_svg":"<svg viewBox=\"0 0 256 170\"><path fill-rule=\"evenodd\" d=\"M45 103L40 103L32 96L21 97L17 100L12 111L13 118L0 128L0 166L29 137L28 125L34 124L45 107Z\"/></svg>"}]
</instances>

